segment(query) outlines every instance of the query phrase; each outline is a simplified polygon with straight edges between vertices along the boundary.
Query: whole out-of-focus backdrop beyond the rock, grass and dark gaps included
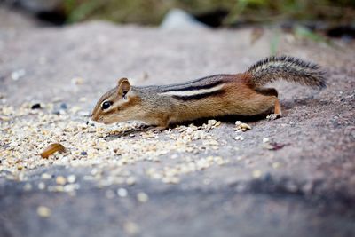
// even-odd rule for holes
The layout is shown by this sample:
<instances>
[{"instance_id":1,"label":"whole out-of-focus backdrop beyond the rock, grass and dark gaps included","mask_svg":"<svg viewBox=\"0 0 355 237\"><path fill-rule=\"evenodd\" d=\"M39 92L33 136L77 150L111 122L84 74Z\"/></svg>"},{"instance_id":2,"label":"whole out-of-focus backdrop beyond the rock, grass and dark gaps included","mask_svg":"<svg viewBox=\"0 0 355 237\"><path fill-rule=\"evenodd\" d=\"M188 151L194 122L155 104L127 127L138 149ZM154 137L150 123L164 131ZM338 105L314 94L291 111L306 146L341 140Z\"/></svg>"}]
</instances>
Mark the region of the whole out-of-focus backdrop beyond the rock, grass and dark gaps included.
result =
<instances>
[{"instance_id":1,"label":"whole out-of-focus backdrop beyond the rock, grass and dark gaps included","mask_svg":"<svg viewBox=\"0 0 355 237\"><path fill-rule=\"evenodd\" d=\"M277 23L285 30L302 26L301 34L355 37L354 0L0 0L41 24L66 25L84 20L160 26L185 18L209 28L242 28ZM170 13L169 13L170 12ZM169 20L169 21L170 21ZM178 20L177 20L178 21ZM37 22L37 23L38 23ZM304 30L306 31L304 33Z\"/></svg>"}]
</instances>

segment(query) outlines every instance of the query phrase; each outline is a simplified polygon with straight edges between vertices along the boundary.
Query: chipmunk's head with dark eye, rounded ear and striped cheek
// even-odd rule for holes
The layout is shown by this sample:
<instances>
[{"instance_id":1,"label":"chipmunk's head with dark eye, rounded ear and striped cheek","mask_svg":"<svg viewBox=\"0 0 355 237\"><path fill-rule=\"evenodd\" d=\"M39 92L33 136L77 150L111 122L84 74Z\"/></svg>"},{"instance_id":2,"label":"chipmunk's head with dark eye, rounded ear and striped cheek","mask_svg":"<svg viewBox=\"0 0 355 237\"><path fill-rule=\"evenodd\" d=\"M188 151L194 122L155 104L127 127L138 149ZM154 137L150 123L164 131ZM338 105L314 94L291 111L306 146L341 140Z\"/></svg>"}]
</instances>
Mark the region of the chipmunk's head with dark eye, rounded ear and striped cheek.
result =
<instances>
[{"instance_id":1,"label":"chipmunk's head with dark eye, rounded ear and striped cheek","mask_svg":"<svg viewBox=\"0 0 355 237\"><path fill-rule=\"evenodd\" d=\"M134 119L141 110L140 99L132 91L127 78L121 78L118 85L107 91L91 113L91 120L103 123L125 122Z\"/></svg>"}]
</instances>

